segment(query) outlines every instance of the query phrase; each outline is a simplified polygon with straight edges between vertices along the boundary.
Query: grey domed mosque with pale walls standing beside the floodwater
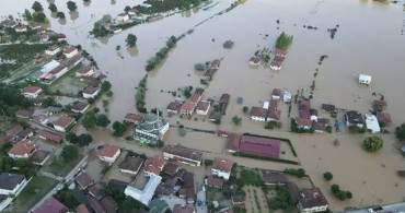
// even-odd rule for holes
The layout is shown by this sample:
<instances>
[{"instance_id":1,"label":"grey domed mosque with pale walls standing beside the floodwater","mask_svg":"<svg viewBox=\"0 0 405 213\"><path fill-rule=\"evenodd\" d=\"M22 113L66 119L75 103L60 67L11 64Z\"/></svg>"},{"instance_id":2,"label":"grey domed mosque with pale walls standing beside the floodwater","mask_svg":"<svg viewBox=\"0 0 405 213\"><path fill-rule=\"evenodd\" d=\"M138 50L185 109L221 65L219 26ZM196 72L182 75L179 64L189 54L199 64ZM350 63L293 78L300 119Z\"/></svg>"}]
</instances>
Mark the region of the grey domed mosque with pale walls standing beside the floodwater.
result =
<instances>
[{"instance_id":1,"label":"grey domed mosque with pale walls standing beside the floodwater","mask_svg":"<svg viewBox=\"0 0 405 213\"><path fill-rule=\"evenodd\" d=\"M140 143L155 144L158 141L163 141L163 135L169 130L169 122L155 114L147 114L142 121L135 127L136 140Z\"/></svg>"}]
</instances>

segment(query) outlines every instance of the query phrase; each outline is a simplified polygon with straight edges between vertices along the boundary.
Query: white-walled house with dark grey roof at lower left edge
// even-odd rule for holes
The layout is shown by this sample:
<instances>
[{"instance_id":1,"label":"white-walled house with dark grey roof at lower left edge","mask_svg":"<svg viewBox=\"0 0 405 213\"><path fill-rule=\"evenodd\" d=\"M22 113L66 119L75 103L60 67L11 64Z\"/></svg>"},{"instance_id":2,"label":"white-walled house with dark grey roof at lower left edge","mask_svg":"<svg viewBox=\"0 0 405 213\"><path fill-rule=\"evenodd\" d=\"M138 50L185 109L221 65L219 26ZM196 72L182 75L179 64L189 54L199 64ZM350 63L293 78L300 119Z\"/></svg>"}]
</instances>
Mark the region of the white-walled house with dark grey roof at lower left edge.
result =
<instances>
[{"instance_id":1,"label":"white-walled house with dark grey roof at lower left edge","mask_svg":"<svg viewBox=\"0 0 405 213\"><path fill-rule=\"evenodd\" d=\"M18 194L26 186L26 179L23 175L2 173L0 175L0 194Z\"/></svg>"}]
</instances>

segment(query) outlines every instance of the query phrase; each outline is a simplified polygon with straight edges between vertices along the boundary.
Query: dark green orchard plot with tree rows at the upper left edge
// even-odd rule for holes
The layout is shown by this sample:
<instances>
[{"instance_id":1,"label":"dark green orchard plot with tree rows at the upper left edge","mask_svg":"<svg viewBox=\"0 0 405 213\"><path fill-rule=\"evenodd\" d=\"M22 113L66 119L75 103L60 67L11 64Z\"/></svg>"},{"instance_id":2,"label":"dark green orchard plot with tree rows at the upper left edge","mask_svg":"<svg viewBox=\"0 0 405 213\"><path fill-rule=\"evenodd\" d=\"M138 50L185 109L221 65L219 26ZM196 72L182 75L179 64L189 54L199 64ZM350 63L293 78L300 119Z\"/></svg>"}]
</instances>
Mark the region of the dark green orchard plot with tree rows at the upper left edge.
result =
<instances>
[{"instance_id":1,"label":"dark green orchard plot with tree rows at the upper left edge","mask_svg":"<svg viewBox=\"0 0 405 213\"><path fill-rule=\"evenodd\" d=\"M21 35L26 36L27 39L32 39L36 33L32 29L25 33L15 33L15 31L11 32L10 39L16 40ZM49 45L47 44L38 44L38 45L24 45L24 44L15 44L15 45L3 45L0 46L0 58L4 61L14 61L13 63L1 63L0 64L0 78L9 76L10 72L13 70L19 69L20 67L24 66L25 63L34 60L39 54L42 54L45 49L47 49Z\"/></svg>"}]
</instances>

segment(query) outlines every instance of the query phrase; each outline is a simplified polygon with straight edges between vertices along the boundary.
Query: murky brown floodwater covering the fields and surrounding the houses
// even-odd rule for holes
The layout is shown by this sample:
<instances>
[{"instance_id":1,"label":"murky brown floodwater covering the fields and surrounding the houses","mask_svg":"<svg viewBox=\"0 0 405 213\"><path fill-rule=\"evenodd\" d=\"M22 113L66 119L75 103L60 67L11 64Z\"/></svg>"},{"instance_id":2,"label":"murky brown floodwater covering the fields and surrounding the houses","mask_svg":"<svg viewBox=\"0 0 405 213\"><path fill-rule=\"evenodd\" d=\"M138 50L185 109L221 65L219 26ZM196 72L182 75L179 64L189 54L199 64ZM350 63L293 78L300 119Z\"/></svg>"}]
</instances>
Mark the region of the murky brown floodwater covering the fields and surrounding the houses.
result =
<instances>
[{"instance_id":1,"label":"murky brown floodwater covering the fields and surrounding the houses","mask_svg":"<svg viewBox=\"0 0 405 213\"><path fill-rule=\"evenodd\" d=\"M22 13L31 8L33 1L15 4L11 0L2 0L0 15ZM114 102L108 106L112 120L121 120L128 111L136 111L135 94L139 80L146 74L146 61L161 48L171 35L178 36L193 28L196 24L228 8L232 1L221 0L210 10L192 10L188 13L176 14L162 21L142 24L104 39L92 39L88 35L93 23L109 13L113 17L123 11L125 5L135 5L138 1L117 0L93 1L84 5L77 1L78 12L69 14L66 3L56 0L59 10L66 13L66 23L59 23L50 17L47 1L40 0L45 13L50 20L51 28L67 34L68 42L80 44L94 56L102 72L105 72L113 83ZM25 4L22 7L21 4ZM311 176L315 186L321 187L332 210L343 210L345 206L364 206L377 203L392 203L405 199L405 184L396 176L397 169L405 169L405 159L396 150L393 134L384 134L384 147L377 154L362 151L361 141L364 134L292 134L289 129L288 106L280 104L281 130L265 130L263 123L252 122L242 115L243 106L261 106L268 100L273 88L288 90L296 94L303 90L310 95L310 85L315 79L313 108L320 109L321 104L335 104L338 108L356 109L368 113L374 98L372 93L382 94L389 104L387 113L392 115L393 123L389 130L405 120L403 91L405 74L404 2L378 3L372 0L247 0L234 10L213 16L195 27L190 35L180 40L169 54L169 58L159 70L150 72L148 78L147 108L158 107L164 110L173 99L167 91L199 84L200 73L194 71L194 63L222 58L219 72L206 88L204 98L219 98L222 93L231 95L227 116L220 126L210 122L178 118L170 119L172 125L180 121L186 127L200 129L223 129L238 132L289 138L299 155L302 167ZM91 17L91 14L95 14ZM280 23L277 24L276 20ZM317 29L304 28L311 25ZM331 39L327 28L337 28L334 39ZM281 71L270 71L263 67L251 69L247 64L253 54L262 47L273 47L276 37L285 31L293 35L293 44ZM137 35L137 48L125 48L128 33ZM265 35L268 36L265 36ZM231 50L222 49L227 39L235 42ZM212 42L213 40L213 42ZM117 52L116 46L121 46ZM322 55L328 58L320 66ZM124 57L124 58L121 58ZM357 75L372 75L370 86L359 86ZM163 91L163 92L161 92ZM236 104L235 98L242 96L243 104ZM231 123L234 115L242 116L242 125ZM291 117L298 116L297 107L292 107ZM324 115L327 117L327 115ZM346 132L346 131L344 131ZM99 134L100 132L94 132ZM339 146L333 141L339 140ZM114 140L105 133L95 141ZM175 130L166 135L170 144L185 144L190 147L207 150L205 157L211 158L223 152L224 140L201 137L198 133L187 133L180 137ZM147 154L152 152L147 150ZM257 162L254 159L229 158L245 166L284 169L291 167L284 164ZM338 184L342 189L350 190L354 198L350 201L338 201L329 191L331 182L323 180L324 171L332 171L332 184Z\"/></svg>"}]
</instances>

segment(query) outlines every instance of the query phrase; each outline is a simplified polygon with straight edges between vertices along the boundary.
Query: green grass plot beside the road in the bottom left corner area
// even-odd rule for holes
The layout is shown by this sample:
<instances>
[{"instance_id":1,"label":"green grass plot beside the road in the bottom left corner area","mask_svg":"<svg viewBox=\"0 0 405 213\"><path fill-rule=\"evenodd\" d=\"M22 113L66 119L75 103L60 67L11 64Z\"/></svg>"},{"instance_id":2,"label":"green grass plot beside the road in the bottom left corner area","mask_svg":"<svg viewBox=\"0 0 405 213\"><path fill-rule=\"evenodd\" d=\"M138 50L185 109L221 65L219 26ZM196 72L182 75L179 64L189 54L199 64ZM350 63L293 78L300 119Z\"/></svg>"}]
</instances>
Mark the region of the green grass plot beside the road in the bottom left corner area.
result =
<instances>
[{"instance_id":1,"label":"green grass plot beside the road in the bottom left corner area","mask_svg":"<svg viewBox=\"0 0 405 213\"><path fill-rule=\"evenodd\" d=\"M58 181L53 178L34 176L14 200L13 211L28 212L30 209L43 199L57 184Z\"/></svg>"}]
</instances>

